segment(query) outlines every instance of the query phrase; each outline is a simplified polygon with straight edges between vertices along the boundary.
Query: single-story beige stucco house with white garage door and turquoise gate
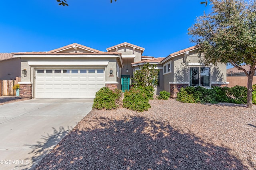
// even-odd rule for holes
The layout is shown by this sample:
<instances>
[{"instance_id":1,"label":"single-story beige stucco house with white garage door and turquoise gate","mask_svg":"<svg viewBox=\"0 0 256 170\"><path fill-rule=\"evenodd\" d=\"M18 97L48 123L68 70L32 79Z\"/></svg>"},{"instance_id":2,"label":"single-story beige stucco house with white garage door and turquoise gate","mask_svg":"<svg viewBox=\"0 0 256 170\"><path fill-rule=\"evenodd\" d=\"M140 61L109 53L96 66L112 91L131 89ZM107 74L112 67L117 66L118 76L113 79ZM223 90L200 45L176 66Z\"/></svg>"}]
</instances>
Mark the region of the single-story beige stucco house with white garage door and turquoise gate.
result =
<instances>
[{"instance_id":1,"label":"single-story beige stucco house with white garage door and turquoise gate","mask_svg":"<svg viewBox=\"0 0 256 170\"><path fill-rule=\"evenodd\" d=\"M48 52L13 53L21 59L20 97L94 98L107 86L129 90L132 77L144 63L160 70L155 93L176 97L182 86L226 86L226 64L204 65L203 55L190 47L163 58L142 55L143 47L120 43L99 51L73 43Z\"/></svg>"}]
</instances>

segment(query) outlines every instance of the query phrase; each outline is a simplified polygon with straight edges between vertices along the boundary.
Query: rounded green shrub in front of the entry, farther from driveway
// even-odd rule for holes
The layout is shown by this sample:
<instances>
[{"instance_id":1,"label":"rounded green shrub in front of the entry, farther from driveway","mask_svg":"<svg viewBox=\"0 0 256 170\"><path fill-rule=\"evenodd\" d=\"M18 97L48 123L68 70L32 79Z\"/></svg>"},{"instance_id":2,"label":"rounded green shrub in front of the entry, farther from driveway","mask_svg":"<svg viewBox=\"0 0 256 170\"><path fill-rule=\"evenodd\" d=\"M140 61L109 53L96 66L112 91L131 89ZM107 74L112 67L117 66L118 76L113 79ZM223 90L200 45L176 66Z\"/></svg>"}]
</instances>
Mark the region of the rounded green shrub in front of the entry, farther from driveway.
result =
<instances>
[{"instance_id":1,"label":"rounded green shrub in front of the entry, farther from driveway","mask_svg":"<svg viewBox=\"0 0 256 170\"><path fill-rule=\"evenodd\" d=\"M124 92L123 104L125 108L138 112L148 111L151 107L143 90L134 87Z\"/></svg>"}]
</instances>

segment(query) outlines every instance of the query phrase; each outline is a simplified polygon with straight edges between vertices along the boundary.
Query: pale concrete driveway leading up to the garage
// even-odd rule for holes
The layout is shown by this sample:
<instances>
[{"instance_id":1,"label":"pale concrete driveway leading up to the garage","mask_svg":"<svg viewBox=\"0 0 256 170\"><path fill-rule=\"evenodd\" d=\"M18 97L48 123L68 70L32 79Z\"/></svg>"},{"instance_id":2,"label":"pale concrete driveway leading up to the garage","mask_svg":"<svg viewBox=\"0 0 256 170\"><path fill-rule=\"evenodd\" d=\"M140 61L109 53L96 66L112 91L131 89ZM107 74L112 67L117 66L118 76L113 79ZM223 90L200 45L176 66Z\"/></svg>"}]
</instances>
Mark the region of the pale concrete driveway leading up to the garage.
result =
<instances>
[{"instance_id":1,"label":"pale concrete driveway leading up to the garage","mask_svg":"<svg viewBox=\"0 0 256 170\"><path fill-rule=\"evenodd\" d=\"M0 169L30 169L92 109L91 99L33 99L0 106Z\"/></svg>"}]
</instances>

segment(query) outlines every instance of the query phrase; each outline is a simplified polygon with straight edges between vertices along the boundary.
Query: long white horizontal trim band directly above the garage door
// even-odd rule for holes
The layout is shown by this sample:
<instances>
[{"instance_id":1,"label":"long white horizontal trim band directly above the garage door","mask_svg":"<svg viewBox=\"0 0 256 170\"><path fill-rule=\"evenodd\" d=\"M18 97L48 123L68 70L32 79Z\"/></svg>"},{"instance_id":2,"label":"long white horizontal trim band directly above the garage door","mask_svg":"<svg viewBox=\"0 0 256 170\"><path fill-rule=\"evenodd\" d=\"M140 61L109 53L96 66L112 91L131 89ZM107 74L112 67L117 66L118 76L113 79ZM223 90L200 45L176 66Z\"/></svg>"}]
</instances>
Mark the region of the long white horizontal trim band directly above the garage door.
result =
<instances>
[{"instance_id":1,"label":"long white horizontal trim band directly above the garage door","mask_svg":"<svg viewBox=\"0 0 256 170\"><path fill-rule=\"evenodd\" d=\"M50 66L50 65L62 65L62 66L70 66L70 65L76 65L76 66L106 66L108 65L108 61L28 61L28 65L44 65L44 66Z\"/></svg>"}]
</instances>

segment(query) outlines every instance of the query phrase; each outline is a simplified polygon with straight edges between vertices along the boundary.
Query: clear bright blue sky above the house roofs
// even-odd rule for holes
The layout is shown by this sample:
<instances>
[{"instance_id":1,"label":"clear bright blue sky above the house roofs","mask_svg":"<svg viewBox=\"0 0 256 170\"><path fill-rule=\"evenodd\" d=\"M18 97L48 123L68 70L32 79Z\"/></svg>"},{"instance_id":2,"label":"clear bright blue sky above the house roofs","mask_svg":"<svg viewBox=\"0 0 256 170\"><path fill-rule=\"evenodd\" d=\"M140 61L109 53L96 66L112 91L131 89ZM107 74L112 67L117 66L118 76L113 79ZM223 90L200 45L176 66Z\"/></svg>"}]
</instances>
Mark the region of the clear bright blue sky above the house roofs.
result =
<instances>
[{"instance_id":1,"label":"clear bright blue sky above the house roofs","mask_svg":"<svg viewBox=\"0 0 256 170\"><path fill-rule=\"evenodd\" d=\"M210 12L204 0L5 0L0 5L0 53L50 51L79 43L106 51L128 42L143 55L166 57L191 47L188 28ZM114 1L114 0L113 0Z\"/></svg>"}]
</instances>

